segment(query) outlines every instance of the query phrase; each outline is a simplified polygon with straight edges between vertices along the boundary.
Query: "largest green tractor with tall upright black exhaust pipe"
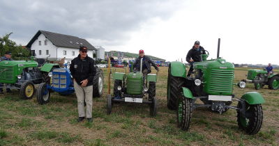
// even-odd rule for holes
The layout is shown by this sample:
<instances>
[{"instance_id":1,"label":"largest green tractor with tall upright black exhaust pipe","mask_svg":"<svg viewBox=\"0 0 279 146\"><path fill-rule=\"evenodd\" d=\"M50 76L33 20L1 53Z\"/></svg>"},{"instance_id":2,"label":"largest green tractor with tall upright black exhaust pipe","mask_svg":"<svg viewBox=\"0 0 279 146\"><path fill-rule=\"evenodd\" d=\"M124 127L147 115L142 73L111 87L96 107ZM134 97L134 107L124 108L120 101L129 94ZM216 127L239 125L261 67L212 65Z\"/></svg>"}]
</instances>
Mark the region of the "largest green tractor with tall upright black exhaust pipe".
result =
<instances>
[{"instance_id":1,"label":"largest green tractor with tall upright black exhaust pipe","mask_svg":"<svg viewBox=\"0 0 279 146\"><path fill-rule=\"evenodd\" d=\"M186 66L180 62L169 64L167 79L167 107L176 110L179 128L188 130L193 110L199 107L224 113L229 108L237 111L237 122L248 134L257 133L262 127L262 105L264 98L259 92L246 92L241 98L233 94L233 85L245 88L246 83L234 81L234 65L218 57L206 60L209 54L202 55L202 62L194 63L194 72L186 77ZM203 104L196 104L200 99ZM232 102L238 102L232 106Z\"/></svg>"}]
</instances>

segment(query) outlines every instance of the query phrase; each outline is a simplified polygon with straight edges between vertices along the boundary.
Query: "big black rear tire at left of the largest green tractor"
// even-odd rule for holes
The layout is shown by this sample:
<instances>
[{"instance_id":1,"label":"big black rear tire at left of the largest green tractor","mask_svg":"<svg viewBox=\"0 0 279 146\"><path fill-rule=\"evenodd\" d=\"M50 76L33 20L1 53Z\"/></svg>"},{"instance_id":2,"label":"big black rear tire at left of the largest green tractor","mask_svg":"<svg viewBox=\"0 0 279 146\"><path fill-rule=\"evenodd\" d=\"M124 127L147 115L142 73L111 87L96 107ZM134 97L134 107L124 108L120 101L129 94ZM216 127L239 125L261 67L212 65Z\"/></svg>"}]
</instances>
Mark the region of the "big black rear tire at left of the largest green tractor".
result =
<instances>
[{"instance_id":1,"label":"big black rear tire at left of the largest green tractor","mask_svg":"<svg viewBox=\"0 0 279 146\"><path fill-rule=\"evenodd\" d=\"M169 71L167 76L167 108L170 110L176 110L176 100L179 97L180 89L184 84L185 79L178 76L172 76L171 66L169 65Z\"/></svg>"}]
</instances>

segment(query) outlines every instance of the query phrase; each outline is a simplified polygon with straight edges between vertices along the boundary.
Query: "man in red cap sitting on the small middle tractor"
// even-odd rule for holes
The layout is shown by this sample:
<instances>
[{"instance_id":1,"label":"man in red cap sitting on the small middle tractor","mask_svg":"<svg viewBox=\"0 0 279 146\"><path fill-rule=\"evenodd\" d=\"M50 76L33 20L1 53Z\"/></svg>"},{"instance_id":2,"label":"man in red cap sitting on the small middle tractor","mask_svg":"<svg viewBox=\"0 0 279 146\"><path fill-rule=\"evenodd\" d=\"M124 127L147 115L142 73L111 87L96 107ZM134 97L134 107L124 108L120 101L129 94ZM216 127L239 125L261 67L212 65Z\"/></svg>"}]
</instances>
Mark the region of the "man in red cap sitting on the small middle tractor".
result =
<instances>
[{"instance_id":1,"label":"man in red cap sitting on the small middle tractor","mask_svg":"<svg viewBox=\"0 0 279 146\"><path fill-rule=\"evenodd\" d=\"M159 68L157 67L157 65L155 63L153 63L151 58L149 58L148 56L144 56L144 50L141 49L139 51L139 57L137 58L137 60L135 60L134 70L140 71L140 60L141 59L142 59L142 74L143 74L144 81L145 81L146 75L151 72L151 65L153 67L155 67L157 72L159 72Z\"/></svg>"}]
</instances>

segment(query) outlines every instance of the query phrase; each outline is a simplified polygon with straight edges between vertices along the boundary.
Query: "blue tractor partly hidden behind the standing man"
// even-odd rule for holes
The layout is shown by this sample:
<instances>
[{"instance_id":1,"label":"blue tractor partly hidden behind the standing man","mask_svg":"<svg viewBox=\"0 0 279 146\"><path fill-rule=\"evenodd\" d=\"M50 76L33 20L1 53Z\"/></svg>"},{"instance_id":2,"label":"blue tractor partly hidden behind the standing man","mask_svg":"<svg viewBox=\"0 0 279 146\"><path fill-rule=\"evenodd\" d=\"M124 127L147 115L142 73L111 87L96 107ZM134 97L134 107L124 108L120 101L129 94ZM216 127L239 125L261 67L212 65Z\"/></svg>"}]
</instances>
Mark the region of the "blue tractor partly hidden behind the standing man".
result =
<instances>
[{"instance_id":1,"label":"blue tractor partly hidden behind the standing man","mask_svg":"<svg viewBox=\"0 0 279 146\"><path fill-rule=\"evenodd\" d=\"M37 90L37 101L39 104L50 102L50 93L58 92L59 95L71 95L75 92L73 79L67 67L55 68L49 72L50 83L40 83ZM93 79L93 97L101 97L103 94L103 70L96 68Z\"/></svg>"}]
</instances>

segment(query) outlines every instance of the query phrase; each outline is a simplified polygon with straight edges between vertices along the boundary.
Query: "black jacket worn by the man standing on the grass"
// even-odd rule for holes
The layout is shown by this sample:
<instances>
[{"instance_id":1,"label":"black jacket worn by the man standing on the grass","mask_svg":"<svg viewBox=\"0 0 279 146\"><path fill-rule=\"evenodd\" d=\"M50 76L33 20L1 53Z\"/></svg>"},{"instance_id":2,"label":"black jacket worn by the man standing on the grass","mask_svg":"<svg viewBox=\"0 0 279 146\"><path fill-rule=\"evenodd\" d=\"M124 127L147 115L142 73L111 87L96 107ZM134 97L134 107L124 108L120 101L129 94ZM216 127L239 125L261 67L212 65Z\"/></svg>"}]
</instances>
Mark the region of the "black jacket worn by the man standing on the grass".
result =
<instances>
[{"instance_id":1,"label":"black jacket worn by the man standing on the grass","mask_svg":"<svg viewBox=\"0 0 279 146\"><path fill-rule=\"evenodd\" d=\"M70 74L72 74L73 79L75 79L78 84L82 85L80 82L84 79L88 79L86 86L92 86L93 77L96 74L95 61L89 56L86 56L84 60L81 60L80 55L78 55L70 63Z\"/></svg>"}]
</instances>

